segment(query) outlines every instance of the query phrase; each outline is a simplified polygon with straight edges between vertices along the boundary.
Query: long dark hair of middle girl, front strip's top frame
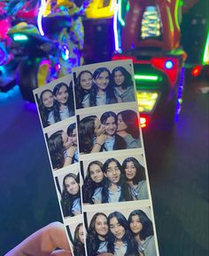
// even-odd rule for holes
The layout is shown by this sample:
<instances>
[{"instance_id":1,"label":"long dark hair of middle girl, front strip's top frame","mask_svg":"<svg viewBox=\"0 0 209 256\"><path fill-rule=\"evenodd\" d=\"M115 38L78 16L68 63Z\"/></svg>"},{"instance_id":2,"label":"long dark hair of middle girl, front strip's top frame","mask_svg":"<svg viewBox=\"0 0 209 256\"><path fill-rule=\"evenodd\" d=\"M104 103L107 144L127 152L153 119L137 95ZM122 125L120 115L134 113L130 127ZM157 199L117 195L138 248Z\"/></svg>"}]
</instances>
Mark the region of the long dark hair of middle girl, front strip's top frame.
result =
<instances>
[{"instance_id":1,"label":"long dark hair of middle girl, front strip's top frame","mask_svg":"<svg viewBox=\"0 0 209 256\"><path fill-rule=\"evenodd\" d=\"M110 82L109 84L107 85L106 87L106 104L112 104L112 103L118 103L118 100L114 94L114 91L113 91L113 87L112 87L112 83L111 83L111 72L108 68L97 68L93 74L93 78L94 80L96 80L98 78L98 76L101 75L102 72L106 71L108 73L108 76L109 76L109 79L110 79ZM97 88L97 84L94 83L94 87ZM97 88L97 91L98 91L98 88ZM97 96L97 95L96 95ZM94 99L94 104L95 106L97 105L97 99L96 99L96 96L95 96L95 99Z\"/></svg>"}]
</instances>

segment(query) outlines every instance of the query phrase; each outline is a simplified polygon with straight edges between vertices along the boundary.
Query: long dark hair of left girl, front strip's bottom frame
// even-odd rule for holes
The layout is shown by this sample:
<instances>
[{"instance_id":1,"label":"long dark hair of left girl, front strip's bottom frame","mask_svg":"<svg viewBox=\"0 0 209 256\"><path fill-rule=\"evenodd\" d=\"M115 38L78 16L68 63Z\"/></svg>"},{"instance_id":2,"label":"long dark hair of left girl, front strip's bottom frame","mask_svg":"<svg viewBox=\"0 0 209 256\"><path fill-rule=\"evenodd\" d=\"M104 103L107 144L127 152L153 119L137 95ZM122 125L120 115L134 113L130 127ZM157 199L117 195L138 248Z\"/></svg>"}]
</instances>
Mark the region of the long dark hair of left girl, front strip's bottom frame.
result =
<instances>
[{"instance_id":1,"label":"long dark hair of left girl, front strip's bottom frame","mask_svg":"<svg viewBox=\"0 0 209 256\"><path fill-rule=\"evenodd\" d=\"M90 256L97 256L97 250L99 248L100 243L102 242L99 240L97 236L97 231L95 230L95 223L99 215L104 216L104 218L106 218L107 220L107 217L104 214L104 212L97 212L90 220L88 235L87 235L87 251L88 251L88 255Z\"/></svg>"}]
</instances>

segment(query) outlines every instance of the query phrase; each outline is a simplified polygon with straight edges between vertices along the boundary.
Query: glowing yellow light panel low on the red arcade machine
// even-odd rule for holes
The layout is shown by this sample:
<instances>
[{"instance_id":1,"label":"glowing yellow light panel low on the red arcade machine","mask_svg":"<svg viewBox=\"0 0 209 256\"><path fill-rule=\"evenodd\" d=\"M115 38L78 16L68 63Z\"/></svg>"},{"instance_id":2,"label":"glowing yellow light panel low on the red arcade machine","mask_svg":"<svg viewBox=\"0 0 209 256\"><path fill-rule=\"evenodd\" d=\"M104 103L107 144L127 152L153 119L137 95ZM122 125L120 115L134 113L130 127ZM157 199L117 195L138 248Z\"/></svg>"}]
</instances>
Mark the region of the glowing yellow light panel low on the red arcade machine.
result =
<instances>
[{"instance_id":1,"label":"glowing yellow light panel low on the red arcade machine","mask_svg":"<svg viewBox=\"0 0 209 256\"><path fill-rule=\"evenodd\" d=\"M152 112L159 99L159 92L137 92L138 110L142 112Z\"/></svg>"}]
</instances>

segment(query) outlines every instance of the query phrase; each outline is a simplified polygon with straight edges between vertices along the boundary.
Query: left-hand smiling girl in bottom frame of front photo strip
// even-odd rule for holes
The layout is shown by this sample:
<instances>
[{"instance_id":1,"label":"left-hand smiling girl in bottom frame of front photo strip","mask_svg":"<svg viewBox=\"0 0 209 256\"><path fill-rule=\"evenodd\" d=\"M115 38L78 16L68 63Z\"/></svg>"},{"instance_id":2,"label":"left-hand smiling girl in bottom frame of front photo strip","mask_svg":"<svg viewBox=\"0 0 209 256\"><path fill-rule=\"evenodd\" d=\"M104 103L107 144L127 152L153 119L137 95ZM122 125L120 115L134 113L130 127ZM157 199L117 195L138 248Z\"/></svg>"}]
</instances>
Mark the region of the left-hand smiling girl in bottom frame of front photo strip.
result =
<instances>
[{"instance_id":1,"label":"left-hand smiling girl in bottom frame of front photo strip","mask_svg":"<svg viewBox=\"0 0 209 256\"><path fill-rule=\"evenodd\" d=\"M107 252L107 217L103 212L97 212L90 220L87 235L87 252L90 256L97 256ZM105 255L105 254L104 254Z\"/></svg>"}]
</instances>

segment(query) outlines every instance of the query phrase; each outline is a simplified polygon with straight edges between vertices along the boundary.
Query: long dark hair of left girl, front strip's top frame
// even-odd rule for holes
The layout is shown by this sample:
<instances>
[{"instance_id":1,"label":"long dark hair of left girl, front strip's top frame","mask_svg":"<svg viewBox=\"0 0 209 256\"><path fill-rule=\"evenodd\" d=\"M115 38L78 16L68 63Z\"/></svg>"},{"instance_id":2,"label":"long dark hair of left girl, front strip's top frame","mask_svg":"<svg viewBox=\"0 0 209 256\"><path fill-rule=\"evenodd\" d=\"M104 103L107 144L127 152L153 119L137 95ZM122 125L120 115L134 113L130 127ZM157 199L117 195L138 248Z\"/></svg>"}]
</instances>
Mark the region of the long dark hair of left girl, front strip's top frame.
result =
<instances>
[{"instance_id":1,"label":"long dark hair of left girl, front strip's top frame","mask_svg":"<svg viewBox=\"0 0 209 256\"><path fill-rule=\"evenodd\" d=\"M96 88L93 86L93 81L92 81L92 86L89 89L89 91L85 91L81 87L81 76L85 73L88 73L90 76L92 76L92 73L89 70L83 70L81 73L79 73L79 76L77 77L77 81L74 87L74 92L75 92L75 99L76 99L76 108L83 108L82 107L82 100L84 99L84 96L89 93L89 106L96 106L95 102L95 95L96 95ZM93 79L93 76L92 76Z\"/></svg>"}]
</instances>

